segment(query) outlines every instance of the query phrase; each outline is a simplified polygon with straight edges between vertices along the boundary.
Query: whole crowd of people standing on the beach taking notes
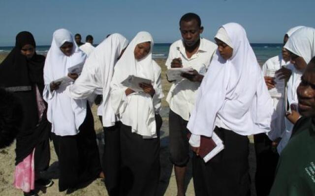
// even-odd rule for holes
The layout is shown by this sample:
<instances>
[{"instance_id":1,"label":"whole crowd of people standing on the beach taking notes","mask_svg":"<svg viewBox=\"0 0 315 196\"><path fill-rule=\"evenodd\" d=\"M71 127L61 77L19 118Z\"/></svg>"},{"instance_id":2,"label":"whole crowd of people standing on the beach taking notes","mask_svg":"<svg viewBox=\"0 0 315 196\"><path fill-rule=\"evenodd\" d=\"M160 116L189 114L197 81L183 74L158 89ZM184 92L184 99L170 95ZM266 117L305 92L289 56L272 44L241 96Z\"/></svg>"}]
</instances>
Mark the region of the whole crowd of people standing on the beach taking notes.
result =
<instances>
[{"instance_id":1,"label":"whole crowd of people standing on the beach taking notes","mask_svg":"<svg viewBox=\"0 0 315 196\"><path fill-rule=\"evenodd\" d=\"M194 13L183 15L179 26L182 39L170 46L165 63L167 69L192 68L181 79L168 79L177 196L185 196L190 158L196 196L251 195L249 135L254 135L257 196L314 195L315 29L290 29L282 53L261 69L240 24L222 25L216 43L201 37L203 26ZM16 188L35 196L35 186L52 186L43 175L52 139L60 192L104 178L110 196L156 195L164 94L153 47L145 31L130 43L113 33L94 47L91 35L83 44L80 34L58 29L44 57L36 54L30 32L16 36L0 64L0 147L16 135ZM69 72L77 65L84 65L81 73ZM126 86L130 75L151 83ZM70 80L58 81L64 76ZM102 158L91 112L99 96ZM214 137L224 148L205 161Z\"/></svg>"}]
</instances>

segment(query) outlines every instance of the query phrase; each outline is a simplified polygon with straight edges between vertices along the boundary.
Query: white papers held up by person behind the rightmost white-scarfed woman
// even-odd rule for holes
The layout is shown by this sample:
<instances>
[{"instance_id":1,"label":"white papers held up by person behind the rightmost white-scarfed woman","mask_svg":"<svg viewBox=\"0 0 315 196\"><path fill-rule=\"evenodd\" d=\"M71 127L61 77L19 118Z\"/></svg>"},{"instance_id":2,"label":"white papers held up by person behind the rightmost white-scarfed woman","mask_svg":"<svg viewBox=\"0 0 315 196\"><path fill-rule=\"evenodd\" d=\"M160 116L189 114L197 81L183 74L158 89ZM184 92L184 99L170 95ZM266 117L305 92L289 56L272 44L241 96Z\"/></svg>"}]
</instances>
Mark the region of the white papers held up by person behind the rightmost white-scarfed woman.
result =
<instances>
[{"instance_id":1,"label":"white papers held up by person behind the rightmost white-scarfed woman","mask_svg":"<svg viewBox=\"0 0 315 196\"><path fill-rule=\"evenodd\" d=\"M266 76L274 77L276 82L275 88L270 89L268 92L271 97L284 97L285 81L284 79L279 79L279 76L276 74L278 70L267 69Z\"/></svg>"}]
</instances>

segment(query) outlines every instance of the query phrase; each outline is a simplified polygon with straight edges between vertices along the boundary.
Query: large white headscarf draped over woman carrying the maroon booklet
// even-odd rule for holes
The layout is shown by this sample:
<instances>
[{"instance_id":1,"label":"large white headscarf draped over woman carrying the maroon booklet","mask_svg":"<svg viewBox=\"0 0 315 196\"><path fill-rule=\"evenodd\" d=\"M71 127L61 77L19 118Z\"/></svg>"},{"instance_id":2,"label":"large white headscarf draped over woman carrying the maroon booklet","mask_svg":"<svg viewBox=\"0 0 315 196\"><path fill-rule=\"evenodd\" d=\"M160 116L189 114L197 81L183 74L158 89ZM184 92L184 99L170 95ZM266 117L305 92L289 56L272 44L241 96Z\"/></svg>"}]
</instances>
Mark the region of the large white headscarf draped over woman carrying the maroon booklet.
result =
<instances>
[{"instance_id":1,"label":"large white headscarf draped over woman carrying the maroon booklet","mask_svg":"<svg viewBox=\"0 0 315 196\"><path fill-rule=\"evenodd\" d=\"M231 41L232 57L225 60L217 50L187 127L194 135L211 137L220 116L222 123L240 135L268 132L271 98L245 29L236 23L222 27Z\"/></svg>"}]
</instances>

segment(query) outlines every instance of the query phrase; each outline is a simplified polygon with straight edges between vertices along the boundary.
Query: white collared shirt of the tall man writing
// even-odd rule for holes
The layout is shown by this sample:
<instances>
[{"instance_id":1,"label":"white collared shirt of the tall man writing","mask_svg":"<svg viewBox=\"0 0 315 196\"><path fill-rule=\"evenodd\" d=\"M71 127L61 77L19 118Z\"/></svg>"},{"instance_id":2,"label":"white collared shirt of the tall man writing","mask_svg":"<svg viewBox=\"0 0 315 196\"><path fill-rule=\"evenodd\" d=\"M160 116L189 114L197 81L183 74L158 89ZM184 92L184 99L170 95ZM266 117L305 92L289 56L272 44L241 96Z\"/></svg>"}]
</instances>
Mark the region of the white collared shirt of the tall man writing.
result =
<instances>
[{"instance_id":1,"label":"white collared shirt of the tall man writing","mask_svg":"<svg viewBox=\"0 0 315 196\"><path fill-rule=\"evenodd\" d=\"M174 58L181 58L184 68L191 67L199 74L205 75L212 55L217 48L218 46L213 42L201 38L198 51L188 58L183 41L178 40L171 45L165 65L167 69L170 69L172 60ZM173 82L169 90L166 101L170 109L185 121L189 120L190 112L194 108L196 92L199 86L200 82L191 82L188 79L182 79Z\"/></svg>"}]
</instances>

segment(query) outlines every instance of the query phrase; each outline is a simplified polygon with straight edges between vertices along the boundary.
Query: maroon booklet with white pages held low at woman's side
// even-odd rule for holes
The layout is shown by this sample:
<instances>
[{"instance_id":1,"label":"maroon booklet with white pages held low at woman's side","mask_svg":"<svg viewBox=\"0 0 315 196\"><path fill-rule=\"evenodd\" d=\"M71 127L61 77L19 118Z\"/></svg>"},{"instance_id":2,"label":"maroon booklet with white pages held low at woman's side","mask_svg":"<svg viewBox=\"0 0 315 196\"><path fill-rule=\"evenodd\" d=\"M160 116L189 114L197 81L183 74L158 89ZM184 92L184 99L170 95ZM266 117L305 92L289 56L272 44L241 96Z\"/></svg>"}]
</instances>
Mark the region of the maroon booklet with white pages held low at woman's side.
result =
<instances>
[{"instance_id":1,"label":"maroon booklet with white pages held low at woman's side","mask_svg":"<svg viewBox=\"0 0 315 196\"><path fill-rule=\"evenodd\" d=\"M188 138L190 136L191 133L188 134ZM204 162L208 162L223 149L223 142L215 132L212 137L200 136L199 156L203 158Z\"/></svg>"}]
</instances>

